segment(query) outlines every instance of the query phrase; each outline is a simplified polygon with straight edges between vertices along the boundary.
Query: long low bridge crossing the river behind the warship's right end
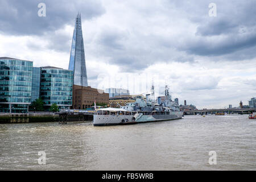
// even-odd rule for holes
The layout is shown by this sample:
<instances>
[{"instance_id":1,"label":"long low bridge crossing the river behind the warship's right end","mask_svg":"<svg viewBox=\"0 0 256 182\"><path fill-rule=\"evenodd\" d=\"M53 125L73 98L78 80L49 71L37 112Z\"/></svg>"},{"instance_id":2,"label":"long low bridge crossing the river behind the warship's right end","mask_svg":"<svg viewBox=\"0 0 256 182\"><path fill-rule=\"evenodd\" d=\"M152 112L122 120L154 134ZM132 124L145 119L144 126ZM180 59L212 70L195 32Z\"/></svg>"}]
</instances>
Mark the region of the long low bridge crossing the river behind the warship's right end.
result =
<instances>
[{"instance_id":1,"label":"long low bridge crossing the river behind the warship's right end","mask_svg":"<svg viewBox=\"0 0 256 182\"><path fill-rule=\"evenodd\" d=\"M184 114L249 114L256 112L256 108L227 108L227 109L203 109L203 110L184 110Z\"/></svg>"}]
</instances>

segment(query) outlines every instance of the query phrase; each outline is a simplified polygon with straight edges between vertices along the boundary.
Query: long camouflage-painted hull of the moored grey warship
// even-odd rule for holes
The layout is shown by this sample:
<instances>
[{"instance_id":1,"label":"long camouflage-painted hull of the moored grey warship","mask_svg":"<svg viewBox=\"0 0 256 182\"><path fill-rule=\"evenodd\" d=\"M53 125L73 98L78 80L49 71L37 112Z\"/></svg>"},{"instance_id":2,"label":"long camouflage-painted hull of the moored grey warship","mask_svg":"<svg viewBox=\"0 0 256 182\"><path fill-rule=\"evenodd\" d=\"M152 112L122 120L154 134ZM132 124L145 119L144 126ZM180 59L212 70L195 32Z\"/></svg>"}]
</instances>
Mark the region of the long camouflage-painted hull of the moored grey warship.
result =
<instances>
[{"instance_id":1,"label":"long camouflage-painted hull of the moored grey warship","mask_svg":"<svg viewBox=\"0 0 256 182\"><path fill-rule=\"evenodd\" d=\"M93 126L108 125L131 125L146 122L170 121L181 119L183 112L172 111L170 114L163 115L139 115L136 119L134 115L93 115Z\"/></svg>"}]
</instances>

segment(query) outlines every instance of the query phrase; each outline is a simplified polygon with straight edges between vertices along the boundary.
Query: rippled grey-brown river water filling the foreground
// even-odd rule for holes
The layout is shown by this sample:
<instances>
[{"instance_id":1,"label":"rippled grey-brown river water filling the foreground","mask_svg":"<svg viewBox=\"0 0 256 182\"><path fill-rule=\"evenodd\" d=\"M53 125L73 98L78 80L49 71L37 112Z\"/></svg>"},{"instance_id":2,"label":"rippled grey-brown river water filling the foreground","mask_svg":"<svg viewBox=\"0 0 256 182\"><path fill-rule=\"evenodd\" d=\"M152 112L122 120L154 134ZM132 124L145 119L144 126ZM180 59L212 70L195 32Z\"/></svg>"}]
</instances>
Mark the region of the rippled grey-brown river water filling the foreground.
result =
<instances>
[{"instance_id":1,"label":"rippled grey-brown river water filling the foreground","mask_svg":"<svg viewBox=\"0 0 256 182\"><path fill-rule=\"evenodd\" d=\"M38 163L39 151L46 152L46 164ZM209 151L216 152L216 164L209 164ZM0 170L256 170L256 119L231 114L106 127L3 124Z\"/></svg>"}]
</instances>

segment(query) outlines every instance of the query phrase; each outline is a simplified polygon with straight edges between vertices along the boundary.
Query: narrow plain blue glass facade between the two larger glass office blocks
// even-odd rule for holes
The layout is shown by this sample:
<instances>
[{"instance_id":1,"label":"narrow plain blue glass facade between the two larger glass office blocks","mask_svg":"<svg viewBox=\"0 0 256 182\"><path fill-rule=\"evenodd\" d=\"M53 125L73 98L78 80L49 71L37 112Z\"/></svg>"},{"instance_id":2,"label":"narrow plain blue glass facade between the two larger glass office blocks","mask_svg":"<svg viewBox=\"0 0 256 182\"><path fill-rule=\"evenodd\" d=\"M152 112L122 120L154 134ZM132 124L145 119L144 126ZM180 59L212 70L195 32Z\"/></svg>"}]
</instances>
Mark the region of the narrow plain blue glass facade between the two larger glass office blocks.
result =
<instances>
[{"instance_id":1,"label":"narrow plain blue glass facade between the two larger glass office blocks","mask_svg":"<svg viewBox=\"0 0 256 182\"><path fill-rule=\"evenodd\" d=\"M33 67L31 102L39 98L41 68Z\"/></svg>"}]
</instances>

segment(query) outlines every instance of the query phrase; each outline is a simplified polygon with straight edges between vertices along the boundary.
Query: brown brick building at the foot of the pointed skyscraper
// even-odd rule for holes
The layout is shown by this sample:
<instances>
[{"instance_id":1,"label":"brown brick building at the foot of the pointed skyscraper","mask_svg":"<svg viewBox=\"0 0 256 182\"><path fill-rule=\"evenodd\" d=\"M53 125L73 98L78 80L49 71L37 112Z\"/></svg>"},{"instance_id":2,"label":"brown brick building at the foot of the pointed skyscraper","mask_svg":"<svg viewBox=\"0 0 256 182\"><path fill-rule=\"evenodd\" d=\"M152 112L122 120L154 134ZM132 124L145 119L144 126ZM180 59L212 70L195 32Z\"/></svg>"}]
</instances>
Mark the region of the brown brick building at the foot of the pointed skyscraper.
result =
<instances>
[{"instance_id":1,"label":"brown brick building at the foot of the pointed skyscraper","mask_svg":"<svg viewBox=\"0 0 256 182\"><path fill-rule=\"evenodd\" d=\"M96 103L109 104L109 94L98 92L98 89L91 88L90 86L73 85L73 101L72 109L86 109Z\"/></svg>"}]
</instances>

